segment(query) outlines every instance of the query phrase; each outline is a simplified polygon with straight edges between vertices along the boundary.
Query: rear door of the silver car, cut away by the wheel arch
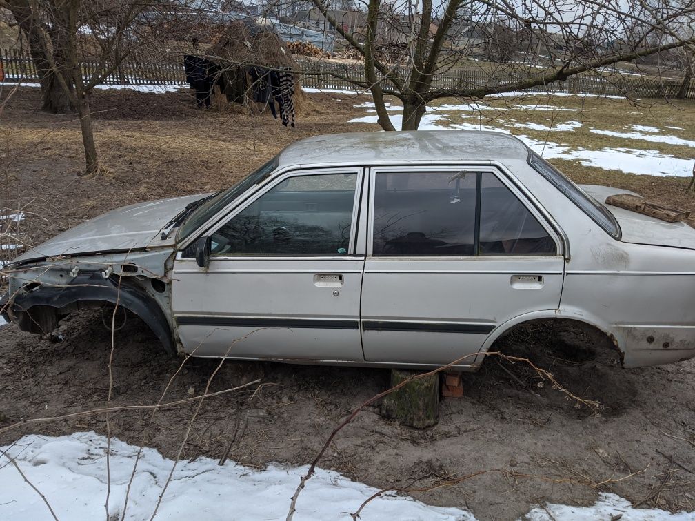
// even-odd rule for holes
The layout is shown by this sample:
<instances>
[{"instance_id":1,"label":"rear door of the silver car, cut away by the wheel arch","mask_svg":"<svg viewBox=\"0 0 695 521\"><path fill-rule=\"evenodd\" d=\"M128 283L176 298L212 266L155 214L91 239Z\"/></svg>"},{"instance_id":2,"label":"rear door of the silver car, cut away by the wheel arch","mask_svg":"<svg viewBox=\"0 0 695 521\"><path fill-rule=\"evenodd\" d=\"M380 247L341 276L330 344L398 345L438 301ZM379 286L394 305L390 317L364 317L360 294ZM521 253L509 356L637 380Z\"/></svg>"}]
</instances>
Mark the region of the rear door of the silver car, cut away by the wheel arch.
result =
<instances>
[{"instance_id":1,"label":"rear door of the silver car, cut away by the wheel arch","mask_svg":"<svg viewBox=\"0 0 695 521\"><path fill-rule=\"evenodd\" d=\"M444 365L559 306L562 242L493 167L377 167L361 327L367 362Z\"/></svg>"}]
</instances>

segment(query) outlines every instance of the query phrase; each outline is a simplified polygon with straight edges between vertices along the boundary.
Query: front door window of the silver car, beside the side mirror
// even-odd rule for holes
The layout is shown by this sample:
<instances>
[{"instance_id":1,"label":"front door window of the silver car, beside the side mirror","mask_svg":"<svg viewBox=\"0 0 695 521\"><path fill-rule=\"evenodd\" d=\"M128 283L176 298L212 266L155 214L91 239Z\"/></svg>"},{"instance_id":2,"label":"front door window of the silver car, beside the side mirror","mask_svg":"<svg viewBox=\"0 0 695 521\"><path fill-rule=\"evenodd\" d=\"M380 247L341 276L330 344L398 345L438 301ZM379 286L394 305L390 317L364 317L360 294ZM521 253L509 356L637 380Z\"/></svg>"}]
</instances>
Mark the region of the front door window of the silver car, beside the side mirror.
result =
<instances>
[{"instance_id":1,"label":"front door window of the silver car, beside the side mirror","mask_svg":"<svg viewBox=\"0 0 695 521\"><path fill-rule=\"evenodd\" d=\"M344 255L357 174L294 176L213 233L213 255Z\"/></svg>"}]
</instances>

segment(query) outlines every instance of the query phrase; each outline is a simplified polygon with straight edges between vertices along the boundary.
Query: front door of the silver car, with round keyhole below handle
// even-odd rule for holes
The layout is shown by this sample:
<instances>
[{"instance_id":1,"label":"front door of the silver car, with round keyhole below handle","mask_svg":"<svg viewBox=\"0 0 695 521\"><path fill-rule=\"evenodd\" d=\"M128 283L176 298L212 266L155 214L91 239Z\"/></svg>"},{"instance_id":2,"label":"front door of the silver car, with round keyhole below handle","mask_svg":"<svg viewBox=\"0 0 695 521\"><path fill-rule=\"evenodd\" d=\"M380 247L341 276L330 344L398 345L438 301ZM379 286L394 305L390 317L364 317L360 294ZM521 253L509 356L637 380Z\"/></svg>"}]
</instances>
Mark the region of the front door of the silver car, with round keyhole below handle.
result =
<instances>
[{"instance_id":1,"label":"front door of the silver car, with round keyhole below handle","mask_svg":"<svg viewBox=\"0 0 695 521\"><path fill-rule=\"evenodd\" d=\"M208 269L179 251L172 308L185 352L363 361L362 180L356 167L282 174L208 233Z\"/></svg>"}]
</instances>

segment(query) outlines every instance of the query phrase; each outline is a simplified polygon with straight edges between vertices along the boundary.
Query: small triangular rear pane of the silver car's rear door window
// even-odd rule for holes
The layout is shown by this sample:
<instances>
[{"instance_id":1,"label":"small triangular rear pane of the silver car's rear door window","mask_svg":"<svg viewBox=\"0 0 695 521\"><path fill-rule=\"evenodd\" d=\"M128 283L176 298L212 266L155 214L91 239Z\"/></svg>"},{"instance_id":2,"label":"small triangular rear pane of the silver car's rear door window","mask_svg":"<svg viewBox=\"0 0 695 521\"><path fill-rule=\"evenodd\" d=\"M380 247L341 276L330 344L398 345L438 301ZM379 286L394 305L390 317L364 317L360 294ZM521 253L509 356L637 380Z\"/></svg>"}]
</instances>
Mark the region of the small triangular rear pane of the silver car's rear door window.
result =
<instances>
[{"instance_id":1,"label":"small triangular rear pane of the silver car's rear door window","mask_svg":"<svg viewBox=\"0 0 695 521\"><path fill-rule=\"evenodd\" d=\"M480 255L555 254L555 241L497 176L481 175Z\"/></svg>"}]
</instances>

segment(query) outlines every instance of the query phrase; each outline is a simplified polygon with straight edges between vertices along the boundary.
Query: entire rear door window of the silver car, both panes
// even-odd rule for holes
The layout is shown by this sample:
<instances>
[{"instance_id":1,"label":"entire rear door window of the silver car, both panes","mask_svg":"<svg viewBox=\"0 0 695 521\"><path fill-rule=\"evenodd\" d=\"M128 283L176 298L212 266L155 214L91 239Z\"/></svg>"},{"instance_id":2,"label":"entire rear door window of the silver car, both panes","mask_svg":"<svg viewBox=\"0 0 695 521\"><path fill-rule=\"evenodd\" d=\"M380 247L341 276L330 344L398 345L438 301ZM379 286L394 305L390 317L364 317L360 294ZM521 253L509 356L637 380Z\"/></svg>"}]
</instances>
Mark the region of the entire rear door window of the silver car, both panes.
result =
<instances>
[{"instance_id":1,"label":"entire rear door window of the silver car, both panes","mask_svg":"<svg viewBox=\"0 0 695 521\"><path fill-rule=\"evenodd\" d=\"M377 172L374 256L555 255L546 229L492 172Z\"/></svg>"}]
</instances>

